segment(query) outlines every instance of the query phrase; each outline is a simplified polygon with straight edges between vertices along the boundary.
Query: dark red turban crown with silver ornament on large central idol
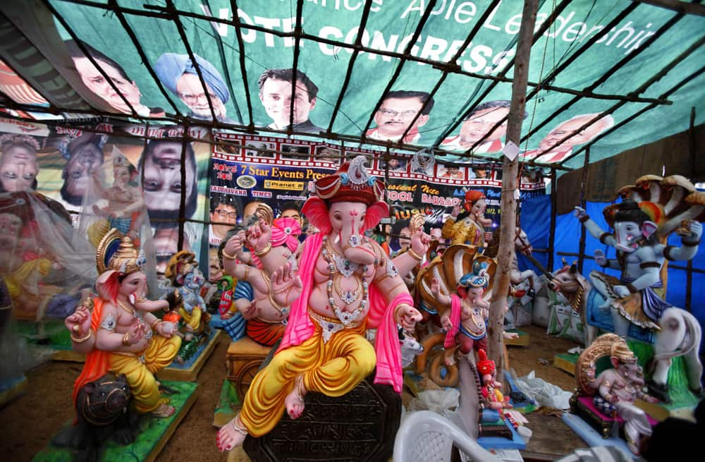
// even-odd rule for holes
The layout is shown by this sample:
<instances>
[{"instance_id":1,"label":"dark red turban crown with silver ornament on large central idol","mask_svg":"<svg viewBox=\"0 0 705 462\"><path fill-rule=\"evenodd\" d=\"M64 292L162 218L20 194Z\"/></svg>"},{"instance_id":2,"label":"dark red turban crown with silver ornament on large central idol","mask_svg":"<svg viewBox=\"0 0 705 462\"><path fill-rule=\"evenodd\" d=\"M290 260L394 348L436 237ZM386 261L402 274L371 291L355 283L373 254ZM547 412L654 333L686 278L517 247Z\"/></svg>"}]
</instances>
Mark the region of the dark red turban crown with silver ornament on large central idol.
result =
<instances>
[{"instance_id":1,"label":"dark red turban crown with silver ornament on large central idol","mask_svg":"<svg viewBox=\"0 0 705 462\"><path fill-rule=\"evenodd\" d=\"M315 183L314 192L328 202L363 202L372 205L384 196L384 183L367 173L364 156L345 162L336 173Z\"/></svg>"}]
</instances>

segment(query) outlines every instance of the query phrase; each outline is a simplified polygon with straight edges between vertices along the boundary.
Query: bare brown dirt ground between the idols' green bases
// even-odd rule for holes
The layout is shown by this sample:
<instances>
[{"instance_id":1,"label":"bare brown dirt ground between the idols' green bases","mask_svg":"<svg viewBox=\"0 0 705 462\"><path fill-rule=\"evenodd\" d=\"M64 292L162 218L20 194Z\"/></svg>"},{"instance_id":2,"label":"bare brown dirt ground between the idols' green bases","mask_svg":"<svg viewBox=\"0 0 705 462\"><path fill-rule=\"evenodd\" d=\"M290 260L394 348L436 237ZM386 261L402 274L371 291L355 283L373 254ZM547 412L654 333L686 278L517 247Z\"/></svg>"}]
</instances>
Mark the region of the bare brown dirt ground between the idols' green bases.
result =
<instances>
[{"instance_id":1,"label":"bare brown dirt ground between the idols' green bases","mask_svg":"<svg viewBox=\"0 0 705 462\"><path fill-rule=\"evenodd\" d=\"M549 362L556 353L576 346L572 341L546 336L545 329L525 326L530 335L527 347L510 347L510 368L519 377L534 370L546 382L572 391L575 379ZM228 341L221 336L211 357L198 376L199 394L193 407L176 432L166 443L157 462L166 461L225 461L215 445L216 429L212 426L213 412L226 375ZM0 409L0 454L5 461L30 461L47 446L51 436L61 425L73 418L71 391L73 381L80 374L80 363L50 362L27 372L28 387L19 399Z\"/></svg>"}]
</instances>

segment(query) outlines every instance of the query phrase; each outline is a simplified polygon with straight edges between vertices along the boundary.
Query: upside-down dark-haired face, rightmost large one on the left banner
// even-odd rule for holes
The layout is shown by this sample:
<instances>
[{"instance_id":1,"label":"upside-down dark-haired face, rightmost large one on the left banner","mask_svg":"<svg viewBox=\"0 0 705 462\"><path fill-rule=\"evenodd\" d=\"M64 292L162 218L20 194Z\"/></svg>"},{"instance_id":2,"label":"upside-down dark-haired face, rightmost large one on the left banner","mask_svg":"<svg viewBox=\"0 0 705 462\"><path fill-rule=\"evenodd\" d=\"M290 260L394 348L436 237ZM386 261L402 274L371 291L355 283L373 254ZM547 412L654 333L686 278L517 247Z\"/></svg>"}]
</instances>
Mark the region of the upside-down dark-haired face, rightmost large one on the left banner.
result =
<instances>
[{"instance_id":1,"label":"upside-down dark-haired face, rightmost large one on the left banner","mask_svg":"<svg viewBox=\"0 0 705 462\"><path fill-rule=\"evenodd\" d=\"M195 159L189 159L186 150L186 199L190 197L195 181ZM145 202L149 210L178 210L181 205L181 143L159 142L147 152L142 169L145 179Z\"/></svg>"}]
</instances>

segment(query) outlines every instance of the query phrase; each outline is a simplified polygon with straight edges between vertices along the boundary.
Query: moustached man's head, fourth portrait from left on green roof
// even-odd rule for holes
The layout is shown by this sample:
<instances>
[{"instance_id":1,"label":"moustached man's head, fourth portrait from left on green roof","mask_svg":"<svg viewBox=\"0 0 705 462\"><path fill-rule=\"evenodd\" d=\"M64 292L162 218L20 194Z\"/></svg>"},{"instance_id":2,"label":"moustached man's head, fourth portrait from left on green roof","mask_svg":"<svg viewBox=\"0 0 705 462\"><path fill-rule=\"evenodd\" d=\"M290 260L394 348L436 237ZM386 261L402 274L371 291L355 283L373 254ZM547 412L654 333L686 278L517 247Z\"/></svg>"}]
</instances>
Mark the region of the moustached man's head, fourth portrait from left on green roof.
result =
<instances>
[{"instance_id":1,"label":"moustached man's head, fourth portrait from left on green roof","mask_svg":"<svg viewBox=\"0 0 705 462\"><path fill-rule=\"evenodd\" d=\"M421 108L427 101L428 104L422 111ZM401 142L410 145L415 144L421 138L419 127L424 126L429 121L429 113L433 107L434 99L427 92L406 90L388 92L379 109L374 113L376 128L367 130L365 135L373 140L399 141L407 128L409 128L409 133ZM410 128L411 122L419 114L419 111L421 111L421 115Z\"/></svg>"}]
</instances>

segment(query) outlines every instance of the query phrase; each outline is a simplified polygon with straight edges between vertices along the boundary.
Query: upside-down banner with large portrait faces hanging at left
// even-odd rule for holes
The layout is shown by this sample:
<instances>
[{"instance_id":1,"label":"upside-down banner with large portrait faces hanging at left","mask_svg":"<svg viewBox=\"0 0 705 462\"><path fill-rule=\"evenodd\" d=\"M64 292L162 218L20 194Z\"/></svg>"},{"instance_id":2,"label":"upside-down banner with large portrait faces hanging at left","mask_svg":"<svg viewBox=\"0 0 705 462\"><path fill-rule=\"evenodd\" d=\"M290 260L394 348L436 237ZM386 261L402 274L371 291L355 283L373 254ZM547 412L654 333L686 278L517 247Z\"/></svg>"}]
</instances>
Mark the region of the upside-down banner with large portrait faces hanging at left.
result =
<instances>
[{"instance_id":1,"label":"upside-down banner with large portrait faces hanging at left","mask_svg":"<svg viewBox=\"0 0 705 462\"><path fill-rule=\"evenodd\" d=\"M190 130L194 140L207 133ZM111 123L67 128L5 119L0 137L1 190L42 193L70 214L86 238L91 219L109 219L124 233L137 229L140 202L158 272L179 241L181 249L200 253L202 224L191 220L204 217L210 145L183 140L183 128Z\"/></svg>"}]
</instances>

